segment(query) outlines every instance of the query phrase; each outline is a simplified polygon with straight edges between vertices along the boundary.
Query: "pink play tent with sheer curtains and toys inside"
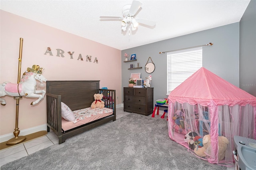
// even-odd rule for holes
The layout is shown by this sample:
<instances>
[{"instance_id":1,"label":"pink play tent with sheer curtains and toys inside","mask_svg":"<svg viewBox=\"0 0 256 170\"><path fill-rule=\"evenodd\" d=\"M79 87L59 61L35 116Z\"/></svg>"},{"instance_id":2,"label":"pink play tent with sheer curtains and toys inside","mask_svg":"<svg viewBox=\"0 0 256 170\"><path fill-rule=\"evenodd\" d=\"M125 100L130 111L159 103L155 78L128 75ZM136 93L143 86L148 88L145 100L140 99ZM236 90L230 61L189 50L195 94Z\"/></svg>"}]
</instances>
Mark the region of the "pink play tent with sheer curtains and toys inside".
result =
<instances>
[{"instance_id":1,"label":"pink play tent with sheer curtains and toys inside","mask_svg":"<svg viewBox=\"0 0 256 170\"><path fill-rule=\"evenodd\" d=\"M204 67L176 87L168 103L170 138L210 163L232 166L234 135L256 139L256 97ZM205 135L211 140L207 148ZM228 139L222 150L220 136Z\"/></svg>"}]
</instances>

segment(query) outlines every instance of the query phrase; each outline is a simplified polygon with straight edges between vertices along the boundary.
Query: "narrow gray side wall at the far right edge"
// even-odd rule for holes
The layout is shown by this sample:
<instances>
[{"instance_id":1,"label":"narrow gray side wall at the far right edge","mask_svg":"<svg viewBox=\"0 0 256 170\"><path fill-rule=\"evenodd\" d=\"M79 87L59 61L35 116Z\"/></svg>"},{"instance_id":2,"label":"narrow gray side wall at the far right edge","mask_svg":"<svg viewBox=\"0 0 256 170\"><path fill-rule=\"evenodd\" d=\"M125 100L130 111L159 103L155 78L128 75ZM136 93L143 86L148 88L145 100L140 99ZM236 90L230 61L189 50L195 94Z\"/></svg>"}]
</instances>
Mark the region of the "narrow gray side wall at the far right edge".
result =
<instances>
[{"instance_id":1,"label":"narrow gray side wall at the far right edge","mask_svg":"<svg viewBox=\"0 0 256 170\"><path fill-rule=\"evenodd\" d=\"M240 20L240 88L256 96L256 1Z\"/></svg>"}]
</instances>

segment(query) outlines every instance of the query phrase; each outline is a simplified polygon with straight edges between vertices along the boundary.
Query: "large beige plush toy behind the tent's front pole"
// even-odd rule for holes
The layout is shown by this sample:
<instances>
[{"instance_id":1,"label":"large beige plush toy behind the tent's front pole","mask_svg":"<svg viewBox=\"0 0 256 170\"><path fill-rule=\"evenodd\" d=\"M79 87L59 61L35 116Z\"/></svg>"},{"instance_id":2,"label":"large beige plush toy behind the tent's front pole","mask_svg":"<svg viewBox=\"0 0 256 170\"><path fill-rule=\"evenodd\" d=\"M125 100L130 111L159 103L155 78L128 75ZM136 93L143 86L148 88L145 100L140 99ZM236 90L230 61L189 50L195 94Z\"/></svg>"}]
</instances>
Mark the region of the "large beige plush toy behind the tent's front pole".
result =
<instances>
[{"instance_id":1,"label":"large beige plush toy behind the tent's front pole","mask_svg":"<svg viewBox=\"0 0 256 170\"><path fill-rule=\"evenodd\" d=\"M223 160L228 148L229 141L225 136L218 136L218 160ZM206 134L203 137L204 148L208 148L211 145L210 134Z\"/></svg>"}]
</instances>

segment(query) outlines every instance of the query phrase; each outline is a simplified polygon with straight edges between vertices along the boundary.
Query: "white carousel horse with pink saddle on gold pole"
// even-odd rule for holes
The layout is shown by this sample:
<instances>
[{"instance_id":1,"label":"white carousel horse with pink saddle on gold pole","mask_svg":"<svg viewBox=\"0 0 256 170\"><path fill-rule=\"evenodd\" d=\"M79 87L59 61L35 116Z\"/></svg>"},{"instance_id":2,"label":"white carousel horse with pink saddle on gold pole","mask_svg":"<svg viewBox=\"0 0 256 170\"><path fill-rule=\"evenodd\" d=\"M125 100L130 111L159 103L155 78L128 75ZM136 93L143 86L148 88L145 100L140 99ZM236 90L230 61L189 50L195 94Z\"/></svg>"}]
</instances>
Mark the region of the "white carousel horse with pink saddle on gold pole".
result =
<instances>
[{"instance_id":1,"label":"white carousel horse with pink saddle on gold pole","mask_svg":"<svg viewBox=\"0 0 256 170\"><path fill-rule=\"evenodd\" d=\"M29 69L29 68L28 68ZM0 97L5 95L13 97L35 97L38 98L36 101L33 101L31 105L37 104L44 98L44 90L36 90L36 80L43 83L46 82L46 78L40 74L40 71L30 71L27 70L23 73L20 83L14 84L10 82L4 82L0 84ZM39 93L42 93L40 95ZM1 105L6 105L6 101L3 98L0 98Z\"/></svg>"}]
</instances>

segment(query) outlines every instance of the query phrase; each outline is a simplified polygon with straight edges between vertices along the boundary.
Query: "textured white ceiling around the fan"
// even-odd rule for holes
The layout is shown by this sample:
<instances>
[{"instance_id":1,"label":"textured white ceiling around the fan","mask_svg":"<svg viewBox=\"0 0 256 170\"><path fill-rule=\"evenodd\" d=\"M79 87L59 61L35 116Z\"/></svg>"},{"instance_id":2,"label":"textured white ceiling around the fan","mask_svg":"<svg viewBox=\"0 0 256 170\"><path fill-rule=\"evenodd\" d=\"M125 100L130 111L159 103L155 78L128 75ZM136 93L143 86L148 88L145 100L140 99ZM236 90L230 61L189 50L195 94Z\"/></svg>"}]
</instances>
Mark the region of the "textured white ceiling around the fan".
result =
<instances>
[{"instance_id":1,"label":"textured white ceiling around the fan","mask_svg":"<svg viewBox=\"0 0 256 170\"><path fill-rule=\"evenodd\" d=\"M1 0L0 9L70 32L116 49L128 49L160 40L239 22L250 0L140 0L136 17L156 21L154 28L139 25L121 31L120 16L132 0Z\"/></svg>"}]
</instances>

